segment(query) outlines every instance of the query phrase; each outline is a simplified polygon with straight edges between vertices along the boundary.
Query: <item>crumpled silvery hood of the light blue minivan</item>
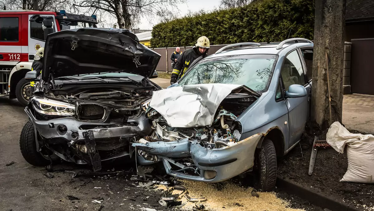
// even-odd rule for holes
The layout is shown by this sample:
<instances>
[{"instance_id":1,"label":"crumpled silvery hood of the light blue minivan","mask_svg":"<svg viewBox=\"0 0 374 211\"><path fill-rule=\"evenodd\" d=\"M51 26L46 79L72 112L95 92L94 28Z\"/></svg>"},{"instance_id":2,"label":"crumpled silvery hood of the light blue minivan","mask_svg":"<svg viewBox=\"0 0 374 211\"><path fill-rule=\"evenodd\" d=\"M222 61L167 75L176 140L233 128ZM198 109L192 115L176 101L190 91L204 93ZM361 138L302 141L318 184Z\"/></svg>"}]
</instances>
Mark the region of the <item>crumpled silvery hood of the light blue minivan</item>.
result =
<instances>
[{"instance_id":1,"label":"crumpled silvery hood of the light blue minivan","mask_svg":"<svg viewBox=\"0 0 374 211\"><path fill-rule=\"evenodd\" d=\"M244 85L196 84L170 87L153 92L149 106L159 112L171 127L211 125L220 103L232 92L260 94Z\"/></svg>"}]
</instances>

